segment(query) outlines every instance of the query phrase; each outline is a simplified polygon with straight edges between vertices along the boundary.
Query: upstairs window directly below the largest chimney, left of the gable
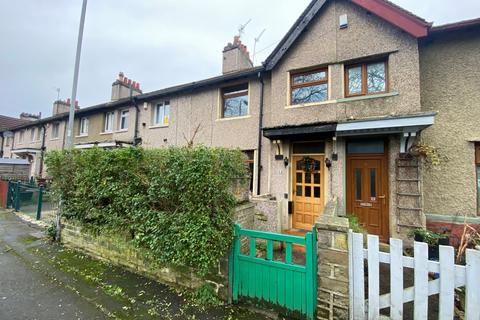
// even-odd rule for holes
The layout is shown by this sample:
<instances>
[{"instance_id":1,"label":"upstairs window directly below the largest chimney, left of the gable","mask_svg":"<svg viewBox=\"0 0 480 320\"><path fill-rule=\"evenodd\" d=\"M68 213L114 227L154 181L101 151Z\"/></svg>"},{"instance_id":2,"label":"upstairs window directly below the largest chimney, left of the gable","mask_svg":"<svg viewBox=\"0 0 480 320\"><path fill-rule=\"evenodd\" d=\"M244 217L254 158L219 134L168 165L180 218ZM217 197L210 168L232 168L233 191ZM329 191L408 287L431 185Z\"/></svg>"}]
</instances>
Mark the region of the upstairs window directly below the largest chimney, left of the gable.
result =
<instances>
[{"instance_id":1,"label":"upstairs window directly below the largest chimney, left of the gable","mask_svg":"<svg viewBox=\"0 0 480 320\"><path fill-rule=\"evenodd\" d=\"M222 118L248 115L248 83L222 88Z\"/></svg>"}]
</instances>

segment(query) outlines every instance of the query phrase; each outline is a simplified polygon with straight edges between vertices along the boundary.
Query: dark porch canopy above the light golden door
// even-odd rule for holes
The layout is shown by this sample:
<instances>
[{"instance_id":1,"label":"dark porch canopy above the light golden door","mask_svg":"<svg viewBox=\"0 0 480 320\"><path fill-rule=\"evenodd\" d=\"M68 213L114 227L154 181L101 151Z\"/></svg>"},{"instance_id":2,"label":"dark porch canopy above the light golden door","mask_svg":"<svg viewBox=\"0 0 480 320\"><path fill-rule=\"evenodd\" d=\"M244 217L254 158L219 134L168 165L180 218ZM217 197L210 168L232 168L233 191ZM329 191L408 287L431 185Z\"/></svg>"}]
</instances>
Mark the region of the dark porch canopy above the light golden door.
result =
<instances>
[{"instance_id":1,"label":"dark porch canopy above the light golden door","mask_svg":"<svg viewBox=\"0 0 480 320\"><path fill-rule=\"evenodd\" d=\"M263 128L263 136L270 140L311 140L335 136L336 122L316 122Z\"/></svg>"}]
</instances>

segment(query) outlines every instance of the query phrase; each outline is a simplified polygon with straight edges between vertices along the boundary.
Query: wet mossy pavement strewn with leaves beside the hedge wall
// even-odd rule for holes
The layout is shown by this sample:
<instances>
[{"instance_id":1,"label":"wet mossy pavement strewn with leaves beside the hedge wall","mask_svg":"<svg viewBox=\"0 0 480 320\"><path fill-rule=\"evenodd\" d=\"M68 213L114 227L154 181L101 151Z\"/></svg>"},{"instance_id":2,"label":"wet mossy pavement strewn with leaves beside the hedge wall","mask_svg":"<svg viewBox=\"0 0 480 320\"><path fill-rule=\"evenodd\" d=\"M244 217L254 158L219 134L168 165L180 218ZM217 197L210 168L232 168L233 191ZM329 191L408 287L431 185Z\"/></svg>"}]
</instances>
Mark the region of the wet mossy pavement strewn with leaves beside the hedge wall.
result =
<instances>
[{"instance_id":1,"label":"wet mossy pavement strewn with leaves beside the hedge wall","mask_svg":"<svg viewBox=\"0 0 480 320\"><path fill-rule=\"evenodd\" d=\"M52 244L0 209L0 320L268 319L238 305L204 308L191 292Z\"/></svg>"}]
</instances>

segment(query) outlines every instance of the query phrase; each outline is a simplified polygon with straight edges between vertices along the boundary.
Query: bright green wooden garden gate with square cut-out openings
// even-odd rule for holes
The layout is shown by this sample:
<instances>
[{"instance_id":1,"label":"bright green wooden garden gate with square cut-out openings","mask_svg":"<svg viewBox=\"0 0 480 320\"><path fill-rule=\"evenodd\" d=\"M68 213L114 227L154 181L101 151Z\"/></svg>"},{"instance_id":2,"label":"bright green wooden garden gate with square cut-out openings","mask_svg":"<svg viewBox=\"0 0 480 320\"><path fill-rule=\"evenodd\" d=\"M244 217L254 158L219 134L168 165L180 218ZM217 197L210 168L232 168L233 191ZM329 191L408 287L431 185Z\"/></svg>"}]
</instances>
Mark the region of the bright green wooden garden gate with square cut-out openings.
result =
<instances>
[{"instance_id":1,"label":"bright green wooden garden gate with square cut-out openings","mask_svg":"<svg viewBox=\"0 0 480 320\"><path fill-rule=\"evenodd\" d=\"M258 239L263 239L257 241ZM246 240L246 242L245 242ZM283 243L284 257L274 259L274 241ZM242 250L248 247L248 253ZM259 244L266 245L263 257ZM292 247L305 246L305 264L292 259ZM317 305L316 230L305 237L242 229L235 225L235 241L230 257L230 285L233 301L256 298L279 305L313 319Z\"/></svg>"}]
</instances>

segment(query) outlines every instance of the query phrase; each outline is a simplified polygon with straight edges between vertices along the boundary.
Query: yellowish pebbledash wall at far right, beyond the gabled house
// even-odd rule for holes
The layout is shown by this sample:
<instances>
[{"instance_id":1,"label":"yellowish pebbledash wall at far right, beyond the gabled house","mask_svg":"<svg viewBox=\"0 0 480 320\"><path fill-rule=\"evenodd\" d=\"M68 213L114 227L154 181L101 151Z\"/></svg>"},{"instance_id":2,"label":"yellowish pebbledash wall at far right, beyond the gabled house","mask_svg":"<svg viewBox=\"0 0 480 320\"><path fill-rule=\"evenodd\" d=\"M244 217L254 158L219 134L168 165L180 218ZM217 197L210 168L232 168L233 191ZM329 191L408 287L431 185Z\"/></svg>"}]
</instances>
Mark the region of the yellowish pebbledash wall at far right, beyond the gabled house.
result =
<instances>
[{"instance_id":1,"label":"yellowish pebbledash wall at far right, beyond the gabled house","mask_svg":"<svg viewBox=\"0 0 480 320\"><path fill-rule=\"evenodd\" d=\"M479 48L479 27L432 33L420 43L422 108L437 112L422 140L440 156L440 164L424 172L427 227L457 237L465 215L480 227L474 150L480 142Z\"/></svg>"}]
</instances>

